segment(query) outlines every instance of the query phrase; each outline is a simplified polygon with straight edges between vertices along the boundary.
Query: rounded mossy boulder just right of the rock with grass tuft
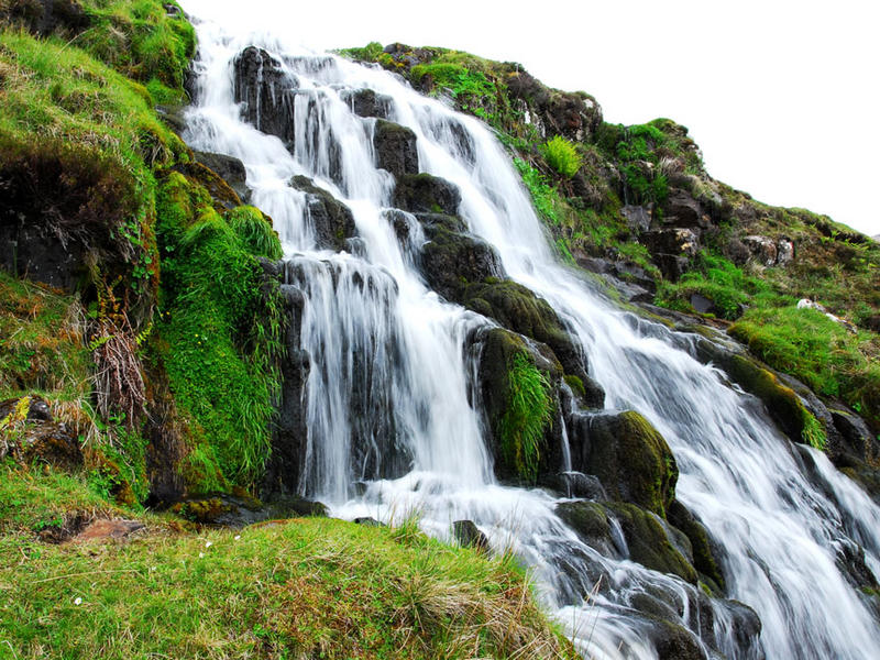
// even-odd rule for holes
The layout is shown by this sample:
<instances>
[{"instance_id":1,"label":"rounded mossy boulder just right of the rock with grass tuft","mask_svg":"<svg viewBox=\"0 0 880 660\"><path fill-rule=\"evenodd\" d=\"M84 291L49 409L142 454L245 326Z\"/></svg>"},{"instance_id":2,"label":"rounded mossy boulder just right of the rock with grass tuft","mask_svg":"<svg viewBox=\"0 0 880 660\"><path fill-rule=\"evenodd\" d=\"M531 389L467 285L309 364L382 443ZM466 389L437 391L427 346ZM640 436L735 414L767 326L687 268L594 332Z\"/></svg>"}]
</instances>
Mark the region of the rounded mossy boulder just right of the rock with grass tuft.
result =
<instances>
[{"instance_id":1,"label":"rounded mossy boulder just right of the rock with grass tuft","mask_svg":"<svg viewBox=\"0 0 880 660\"><path fill-rule=\"evenodd\" d=\"M638 413L575 416L569 428L572 468L595 474L614 499L666 516L679 470L667 441Z\"/></svg>"}]
</instances>

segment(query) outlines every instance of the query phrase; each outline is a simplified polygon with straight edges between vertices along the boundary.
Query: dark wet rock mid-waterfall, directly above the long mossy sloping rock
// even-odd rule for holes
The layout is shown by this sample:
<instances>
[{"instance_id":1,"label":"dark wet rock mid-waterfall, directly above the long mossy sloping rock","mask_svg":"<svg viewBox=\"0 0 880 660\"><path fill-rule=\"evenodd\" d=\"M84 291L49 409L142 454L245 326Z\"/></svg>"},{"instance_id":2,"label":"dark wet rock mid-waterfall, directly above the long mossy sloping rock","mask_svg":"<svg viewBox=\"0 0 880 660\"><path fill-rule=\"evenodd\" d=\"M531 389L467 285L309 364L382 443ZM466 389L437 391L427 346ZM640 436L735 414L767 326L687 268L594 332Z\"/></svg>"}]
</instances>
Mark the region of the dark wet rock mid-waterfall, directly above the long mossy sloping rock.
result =
<instances>
[{"instance_id":1,"label":"dark wet rock mid-waterfall, directly above the long mossy sloping rock","mask_svg":"<svg viewBox=\"0 0 880 660\"><path fill-rule=\"evenodd\" d=\"M426 224L425 235L421 272L428 286L444 298L460 300L469 284L504 276L501 257L486 241L442 224Z\"/></svg>"}]
</instances>

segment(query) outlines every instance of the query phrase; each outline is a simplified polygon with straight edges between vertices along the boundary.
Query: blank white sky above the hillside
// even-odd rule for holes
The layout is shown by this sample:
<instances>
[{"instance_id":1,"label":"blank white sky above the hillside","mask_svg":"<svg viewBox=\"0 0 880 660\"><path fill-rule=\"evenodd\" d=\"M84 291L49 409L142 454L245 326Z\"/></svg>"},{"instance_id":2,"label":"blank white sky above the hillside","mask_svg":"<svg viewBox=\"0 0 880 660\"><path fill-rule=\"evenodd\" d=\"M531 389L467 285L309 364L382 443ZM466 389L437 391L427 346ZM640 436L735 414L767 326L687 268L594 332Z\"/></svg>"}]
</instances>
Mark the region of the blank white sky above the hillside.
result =
<instances>
[{"instance_id":1,"label":"blank white sky above the hillside","mask_svg":"<svg viewBox=\"0 0 880 660\"><path fill-rule=\"evenodd\" d=\"M519 62L605 120L668 117L715 178L880 234L878 0L183 0L317 48L399 41ZM245 13L246 12L246 13Z\"/></svg>"}]
</instances>

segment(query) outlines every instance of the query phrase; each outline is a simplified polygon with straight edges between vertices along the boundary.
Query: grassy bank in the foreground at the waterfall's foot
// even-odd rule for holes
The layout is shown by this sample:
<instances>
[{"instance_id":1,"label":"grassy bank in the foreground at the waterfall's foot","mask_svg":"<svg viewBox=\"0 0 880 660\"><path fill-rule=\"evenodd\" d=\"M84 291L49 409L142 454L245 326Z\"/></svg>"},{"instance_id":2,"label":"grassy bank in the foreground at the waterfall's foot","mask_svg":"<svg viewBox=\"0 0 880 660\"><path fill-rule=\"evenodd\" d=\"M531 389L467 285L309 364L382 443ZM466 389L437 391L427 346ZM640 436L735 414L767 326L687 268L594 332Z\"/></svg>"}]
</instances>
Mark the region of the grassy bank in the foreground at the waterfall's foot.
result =
<instances>
[{"instance_id":1,"label":"grassy bank in the foreground at the waterfall's foot","mask_svg":"<svg viewBox=\"0 0 880 660\"><path fill-rule=\"evenodd\" d=\"M3 658L576 657L509 556L318 518L146 516L129 542L50 546L33 530L74 510L131 514L76 476L0 472Z\"/></svg>"}]
</instances>

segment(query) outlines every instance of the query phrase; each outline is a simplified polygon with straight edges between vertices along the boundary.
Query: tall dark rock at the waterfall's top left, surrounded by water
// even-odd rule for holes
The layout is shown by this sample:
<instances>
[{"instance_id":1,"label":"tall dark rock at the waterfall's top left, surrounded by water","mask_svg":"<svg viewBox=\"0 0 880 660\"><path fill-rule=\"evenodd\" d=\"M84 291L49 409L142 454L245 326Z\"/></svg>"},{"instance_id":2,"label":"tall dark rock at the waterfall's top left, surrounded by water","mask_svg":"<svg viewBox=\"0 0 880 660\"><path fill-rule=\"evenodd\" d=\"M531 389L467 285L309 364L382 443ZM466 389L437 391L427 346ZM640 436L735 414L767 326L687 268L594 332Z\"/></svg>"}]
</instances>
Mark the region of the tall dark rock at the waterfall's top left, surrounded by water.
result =
<instances>
[{"instance_id":1,"label":"tall dark rock at the waterfall's top left, surrounded by water","mask_svg":"<svg viewBox=\"0 0 880 660\"><path fill-rule=\"evenodd\" d=\"M255 46L242 51L232 66L235 102L242 103L244 120L293 145L297 79L284 70L278 59Z\"/></svg>"}]
</instances>

